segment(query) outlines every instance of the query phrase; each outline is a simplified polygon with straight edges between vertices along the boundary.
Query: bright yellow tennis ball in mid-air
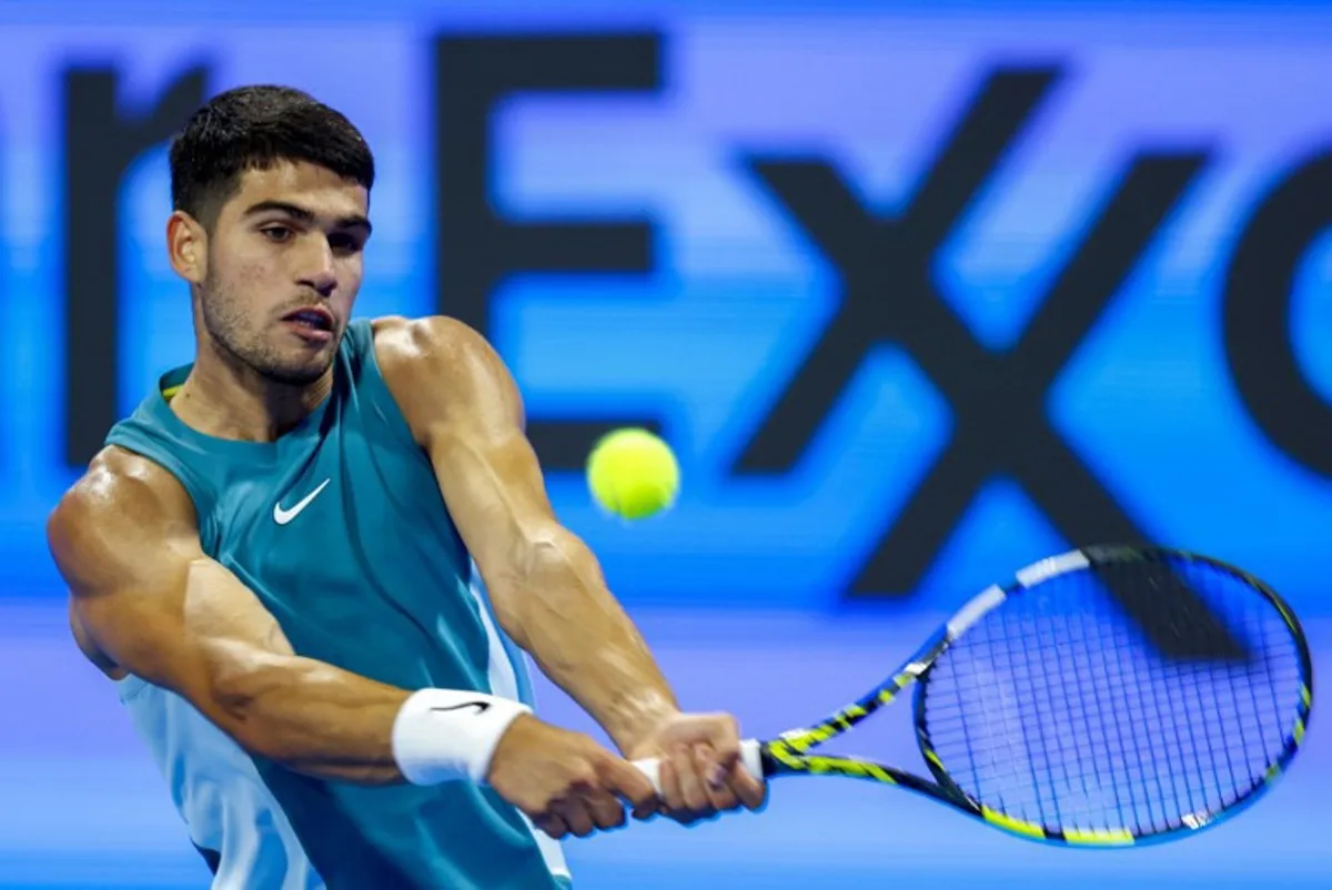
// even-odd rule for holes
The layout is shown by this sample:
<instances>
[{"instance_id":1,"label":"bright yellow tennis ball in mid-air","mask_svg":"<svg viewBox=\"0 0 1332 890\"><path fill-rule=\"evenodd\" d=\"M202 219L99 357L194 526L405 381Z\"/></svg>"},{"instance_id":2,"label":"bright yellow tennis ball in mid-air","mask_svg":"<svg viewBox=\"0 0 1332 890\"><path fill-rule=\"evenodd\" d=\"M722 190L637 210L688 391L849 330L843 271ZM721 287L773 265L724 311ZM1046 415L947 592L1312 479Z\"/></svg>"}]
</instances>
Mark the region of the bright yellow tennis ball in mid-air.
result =
<instances>
[{"instance_id":1,"label":"bright yellow tennis ball in mid-air","mask_svg":"<svg viewBox=\"0 0 1332 890\"><path fill-rule=\"evenodd\" d=\"M675 502L679 464L670 445L646 429L617 429L587 456L587 486L607 512L643 520Z\"/></svg>"}]
</instances>

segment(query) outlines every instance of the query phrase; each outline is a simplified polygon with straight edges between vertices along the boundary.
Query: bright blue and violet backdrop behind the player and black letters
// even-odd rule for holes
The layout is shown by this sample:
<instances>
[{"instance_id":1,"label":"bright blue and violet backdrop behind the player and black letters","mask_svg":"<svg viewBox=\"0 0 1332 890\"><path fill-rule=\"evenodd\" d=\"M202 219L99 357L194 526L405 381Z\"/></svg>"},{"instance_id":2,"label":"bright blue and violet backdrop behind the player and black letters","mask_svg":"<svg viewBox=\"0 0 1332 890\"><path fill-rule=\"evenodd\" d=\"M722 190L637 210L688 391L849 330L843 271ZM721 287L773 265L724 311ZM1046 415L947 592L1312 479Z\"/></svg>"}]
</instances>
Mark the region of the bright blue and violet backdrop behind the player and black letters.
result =
<instances>
[{"instance_id":1,"label":"bright blue and violet backdrop behind the player and black letters","mask_svg":"<svg viewBox=\"0 0 1332 890\"><path fill-rule=\"evenodd\" d=\"M655 96L527 96L496 124L494 201L513 219L646 216L646 280L525 276L493 334L534 413L661 409L685 476L667 516L605 520L577 476L549 480L693 707L786 729L895 666L966 597L1066 546L992 480L920 590L891 610L839 605L859 561L947 441L952 418L911 357L860 369L786 477L723 468L834 309L832 270L742 175L742 151L815 152L880 213L910 200L939 140L995 64L1066 76L938 257L944 296L1010 346L1098 203L1142 148L1212 160L1163 225L1048 400L1059 433L1154 537L1277 586L1332 656L1332 481L1279 453L1224 370L1221 280L1237 226L1332 139L1332 8L1240 3L563 3L0 5L0 887L202 886L165 787L112 690L67 641L47 558L63 466L60 75L115 64L148 107L206 63L213 91L306 88L346 112L381 180L360 314L434 305L430 39L441 31L659 29ZM117 381L129 410L189 358L188 298L163 249L164 151L121 196ZM1296 356L1332 400L1332 241L1292 296ZM1002 432L996 432L1002 434ZM543 687L551 719L590 727ZM902 730L895 725L892 729ZM891 731L866 739L915 765ZM1130 854L1042 850L927 802L851 783L791 783L761 817L653 825L570 846L579 887L1329 887L1332 750L1315 717L1299 779L1243 819ZM880 747L882 746L882 747Z\"/></svg>"}]
</instances>

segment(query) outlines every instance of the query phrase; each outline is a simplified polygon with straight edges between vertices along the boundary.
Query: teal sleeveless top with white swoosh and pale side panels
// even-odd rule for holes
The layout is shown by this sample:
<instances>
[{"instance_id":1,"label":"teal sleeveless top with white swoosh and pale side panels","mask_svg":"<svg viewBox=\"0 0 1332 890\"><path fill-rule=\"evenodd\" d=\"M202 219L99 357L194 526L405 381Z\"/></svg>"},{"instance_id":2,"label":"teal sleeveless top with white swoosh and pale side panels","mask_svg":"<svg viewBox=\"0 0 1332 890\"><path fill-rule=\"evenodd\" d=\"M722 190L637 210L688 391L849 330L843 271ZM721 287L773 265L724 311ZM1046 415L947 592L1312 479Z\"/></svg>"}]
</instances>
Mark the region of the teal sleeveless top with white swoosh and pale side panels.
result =
<instances>
[{"instance_id":1,"label":"teal sleeveless top with white swoosh and pale side panels","mask_svg":"<svg viewBox=\"0 0 1332 890\"><path fill-rule=\"evenodd\" d=\"M107 442L180 480L204 552L256 593L298 654L408 690L533 703L526 661L497 628L380 373L369 321L348 326L330 396L276 442L186 426L168 396L188 373L164 376ZM242 753L173 693L135 677L120 686L216 887L570 886L559 845L492 789L300 775Z\"/></svg>"}]
</instances>

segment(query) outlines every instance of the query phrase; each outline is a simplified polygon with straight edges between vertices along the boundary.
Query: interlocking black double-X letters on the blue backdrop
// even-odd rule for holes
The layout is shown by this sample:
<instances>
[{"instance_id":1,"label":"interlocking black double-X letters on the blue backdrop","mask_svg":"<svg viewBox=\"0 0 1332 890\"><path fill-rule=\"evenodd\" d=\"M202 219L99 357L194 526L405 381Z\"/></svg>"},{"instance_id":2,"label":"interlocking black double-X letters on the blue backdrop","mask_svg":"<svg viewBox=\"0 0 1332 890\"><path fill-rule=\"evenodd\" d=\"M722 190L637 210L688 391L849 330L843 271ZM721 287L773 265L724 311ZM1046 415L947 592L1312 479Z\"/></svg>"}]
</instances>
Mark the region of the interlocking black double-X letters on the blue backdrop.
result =
<instances>
[{"instance_id":1,"label":"interlocking black double-X letters on the blue backdrop","mask_svg":"<svg viewBox=\"0 0 1332 890\"><path fill-rule=\"evenodd\" d=\"M747 161L838 269L842 301L734 472L790 469L867 352L882 341L899 344L915 358L955 416L955 434L862 569L852 594L914 589L979 486L999 473L1019 481L1070 542L1143 538L1051 429L1044 401L1205 156L1139 153L1132 160L1011 352L990 352L976 342L940 298L932 276L936 250L1056 75L992 73L898 219L867 212L825 161Z\"/></svg>"}]
</instances>

